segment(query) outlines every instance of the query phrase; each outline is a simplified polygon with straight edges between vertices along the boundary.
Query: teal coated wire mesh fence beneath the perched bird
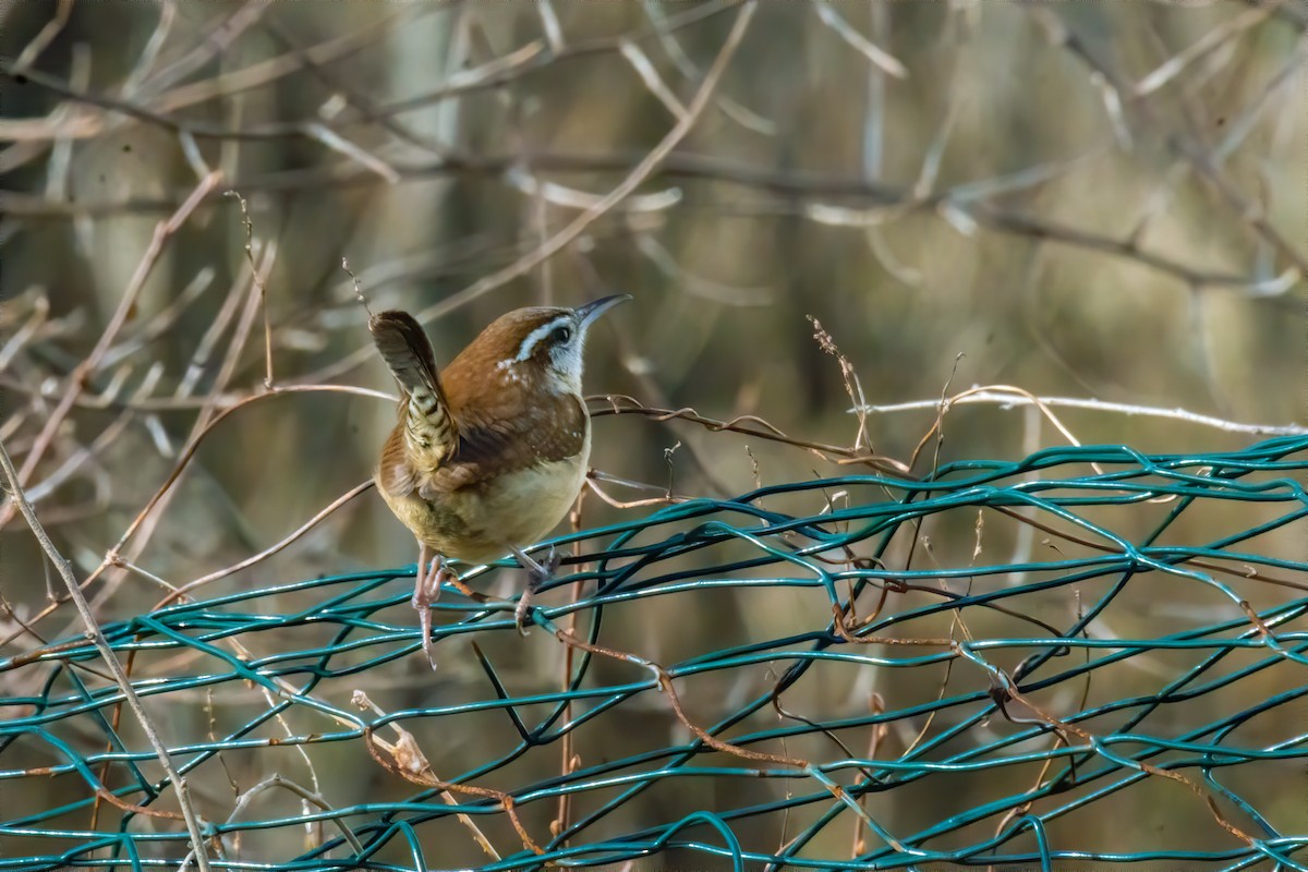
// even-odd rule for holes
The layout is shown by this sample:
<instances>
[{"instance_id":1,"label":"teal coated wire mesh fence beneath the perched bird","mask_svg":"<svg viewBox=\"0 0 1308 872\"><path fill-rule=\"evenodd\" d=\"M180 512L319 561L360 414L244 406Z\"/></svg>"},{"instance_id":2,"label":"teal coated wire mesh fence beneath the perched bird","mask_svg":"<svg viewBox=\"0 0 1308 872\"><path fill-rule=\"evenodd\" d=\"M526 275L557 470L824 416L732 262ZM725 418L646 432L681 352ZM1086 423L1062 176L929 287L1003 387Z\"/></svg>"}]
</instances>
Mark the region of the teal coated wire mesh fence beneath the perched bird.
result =
<instances>
[{"instance_id":1,"label":"teal coated wire mesh fence beneath the perched bird","mask_svg":"<svg viewBox=\"0 0 1308 872\"><path fill-rule=\"evenodd\" d=\"M556 540L528 639L447 591L436 672L412 566L103 630L215 869L1303 869L1305 468L1088 446L668 505ZM177 868L90 642L0 677L0 869Z\"/></svg>"}]
</instances>

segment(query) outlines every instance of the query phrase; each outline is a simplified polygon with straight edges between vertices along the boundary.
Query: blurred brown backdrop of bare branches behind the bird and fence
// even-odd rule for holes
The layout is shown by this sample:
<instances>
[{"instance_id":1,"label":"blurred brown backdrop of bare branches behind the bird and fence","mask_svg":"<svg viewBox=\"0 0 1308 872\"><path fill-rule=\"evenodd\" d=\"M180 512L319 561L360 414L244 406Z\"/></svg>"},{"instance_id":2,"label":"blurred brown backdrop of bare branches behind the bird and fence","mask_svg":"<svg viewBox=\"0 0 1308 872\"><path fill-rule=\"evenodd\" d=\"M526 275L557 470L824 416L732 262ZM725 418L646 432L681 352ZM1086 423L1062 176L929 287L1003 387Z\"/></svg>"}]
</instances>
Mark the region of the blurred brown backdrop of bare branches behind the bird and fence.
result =
<instances>
[{"instance_id":1,"label":"blurred brown backdrop of bare branches behind the bird and fence","mask_svg":"<svg viewBox=\"0 0 1308 872\"><path fill-rule=\"evenodd\" d=\"M757 416L855 455L906 463L938 409L876 407L973 384L1305 420L1298 3L58 0L0 16L0 439L103 621L169 588L212 597L411 560L366 490L292 536L371 475L394 420L343 258L374 310L420 314L442 362L508 309L628 292L591 340L587 391ZM1256 438L1059 418L1083 443L1141 451ZM916 473L1067 441L999 404L959 405L942 433ZM653 485L604 484L617 501L849 469L833 459L687 420L595 420L594 465ZM80 625L3 511L13 658ZM640 511L590 495L579 523ZM1228 511L1186 535L1250 510ZM965 562L973 520L931 531L934 558ZM1029 529L988 536L998 553L1031 546ZM1301 560L1301 528L1262 546ZM1152 605L1143 620L1162 620ZM676 659L812 618L743 588L607 626L621 648ZM545 637L497 656L544 686L565 655ZM420 658L390 664L369 693L398 709L484 681L445 662L436 679ZM900 677L861 681L893 696ZM727 692L706 684L696 705L708 718ZM850 689L807 693L821 711ZM632 735L680 728L624 716ZM199 710L186 718L203 732ZM479 741L494 737L449 752ZM361 754L317 753L341 754L337 783L396 790ZM269 769L251 754L232 775L249 787ZM627 813L671 800L642 801ZM1211 826L1198 805L1167 825L1188 814Z\"/></svg>"}]
</instances>

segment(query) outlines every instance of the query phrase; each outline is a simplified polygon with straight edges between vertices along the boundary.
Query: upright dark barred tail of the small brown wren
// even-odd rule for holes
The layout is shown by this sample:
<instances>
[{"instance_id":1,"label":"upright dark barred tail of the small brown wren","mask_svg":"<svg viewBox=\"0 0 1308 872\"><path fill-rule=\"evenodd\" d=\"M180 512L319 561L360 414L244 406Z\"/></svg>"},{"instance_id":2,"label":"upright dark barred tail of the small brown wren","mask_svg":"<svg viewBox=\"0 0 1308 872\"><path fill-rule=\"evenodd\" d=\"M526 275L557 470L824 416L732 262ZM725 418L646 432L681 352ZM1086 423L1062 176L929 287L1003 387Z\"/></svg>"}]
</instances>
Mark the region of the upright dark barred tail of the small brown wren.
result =
<instances>
[{"instance_id":1,"label":"upright dark barred tail of the small brown wren","mask_svg":"<svg viewBox=\"0 0 1308 872\"><path fill-rule=\"evenodd\" d=\"M404 391L404 435L417 465L437 465L459 443L450 405L436 373L436 354L422 326L402 311L386 311L368 320L377 350ZM426 463L422 463L426 461Z\"/></svg>"}]
</instances>

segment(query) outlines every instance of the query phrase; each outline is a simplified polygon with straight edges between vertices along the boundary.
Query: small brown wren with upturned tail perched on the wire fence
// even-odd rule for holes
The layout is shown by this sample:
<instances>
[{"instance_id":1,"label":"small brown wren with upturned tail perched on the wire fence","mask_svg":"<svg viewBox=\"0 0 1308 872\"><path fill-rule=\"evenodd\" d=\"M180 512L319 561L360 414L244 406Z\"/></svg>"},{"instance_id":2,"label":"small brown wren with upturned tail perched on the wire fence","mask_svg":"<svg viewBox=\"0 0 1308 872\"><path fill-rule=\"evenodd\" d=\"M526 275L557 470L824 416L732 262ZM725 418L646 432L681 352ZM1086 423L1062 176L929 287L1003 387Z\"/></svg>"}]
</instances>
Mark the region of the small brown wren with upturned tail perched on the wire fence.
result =
<instances>
[{"instance_id":1,"label":"small brown wren with upturned tail perched on the wire fence","mask_svg":"<svg viewBox=\"0 0 1308 872\"><path fill-rule=\"evenodd\" d=\"M517 611L522 631L528 597L556 561L551 557L542 566L521 549L562 520L586 480L586 331L627 299L617 294L577 309L514 310L441 373L412 315L369 316L377 349L400 386L399 421L374 478L382 499L419 541L413 608L429 659L430 605L449 573L447 558L485 563L513 553L528 578Z\"/></svg>"}]
</instances>

